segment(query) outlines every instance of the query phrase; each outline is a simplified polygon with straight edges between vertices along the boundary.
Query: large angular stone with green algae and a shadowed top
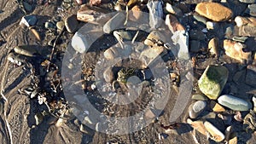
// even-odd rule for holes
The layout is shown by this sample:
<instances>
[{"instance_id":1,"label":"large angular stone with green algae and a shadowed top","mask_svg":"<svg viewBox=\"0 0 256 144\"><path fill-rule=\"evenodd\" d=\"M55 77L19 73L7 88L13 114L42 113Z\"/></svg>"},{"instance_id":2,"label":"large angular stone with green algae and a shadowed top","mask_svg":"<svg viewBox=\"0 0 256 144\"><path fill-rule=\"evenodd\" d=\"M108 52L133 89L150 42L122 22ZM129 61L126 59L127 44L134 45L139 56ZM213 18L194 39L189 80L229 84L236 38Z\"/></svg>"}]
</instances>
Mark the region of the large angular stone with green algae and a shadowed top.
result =
<instances>
[{"instance_id":1,"label":"large angular stone with green algae and a shadowed top","mask_svg":"<svg viewBox=\"0 0 256 144\"><path fill-rule=\"evenodd\" d=\"M198 80L198 86L209 99L216 100L224 89L228 77L229 71L225 66L210 65Z\"/></svg>"}]
</instances>

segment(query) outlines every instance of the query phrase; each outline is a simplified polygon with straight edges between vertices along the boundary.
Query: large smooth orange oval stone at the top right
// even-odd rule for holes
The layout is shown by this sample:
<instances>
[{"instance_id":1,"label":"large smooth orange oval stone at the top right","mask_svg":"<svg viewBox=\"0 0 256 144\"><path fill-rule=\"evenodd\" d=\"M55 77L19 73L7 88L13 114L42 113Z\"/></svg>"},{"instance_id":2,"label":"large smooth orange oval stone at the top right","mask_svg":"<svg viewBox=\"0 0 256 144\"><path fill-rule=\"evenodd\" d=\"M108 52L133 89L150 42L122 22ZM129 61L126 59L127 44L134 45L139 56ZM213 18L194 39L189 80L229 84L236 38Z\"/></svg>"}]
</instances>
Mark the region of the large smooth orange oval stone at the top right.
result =
<instances>
[{"instance_id":1,"label":"large smooth orange oval stone at the top right","mask_svg":"<svg viewBox=\"0 0 256 144\"><path fill-rule=\"evenodd\" d=\"M195 7L195 11L202 16L207 17L214 21L229 20L233 13L230 9L224 7L219 3L203 2L198 3Z\"/></svg>"}]
</instances>

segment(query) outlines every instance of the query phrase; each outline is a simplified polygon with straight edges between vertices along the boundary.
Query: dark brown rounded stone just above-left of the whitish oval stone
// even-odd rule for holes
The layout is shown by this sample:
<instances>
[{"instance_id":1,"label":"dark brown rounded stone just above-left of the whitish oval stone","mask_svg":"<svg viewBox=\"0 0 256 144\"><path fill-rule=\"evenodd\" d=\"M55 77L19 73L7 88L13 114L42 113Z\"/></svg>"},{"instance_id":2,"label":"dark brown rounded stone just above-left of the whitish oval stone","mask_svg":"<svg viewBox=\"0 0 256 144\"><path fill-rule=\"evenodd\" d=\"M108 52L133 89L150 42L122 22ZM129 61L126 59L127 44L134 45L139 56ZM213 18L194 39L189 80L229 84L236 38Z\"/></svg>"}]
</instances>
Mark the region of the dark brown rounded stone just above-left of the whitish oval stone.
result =
<instances>
[{"instance_id":1,"label":"dark brown rounded stone just above-left of the whitish oval stone","mask_svg":"<svg viewBox=\"0 0 256 144\"><path fill-rule=\"evenodd\" d=\"M67 28L67 32L70 33L76 32L79 26L79 21L77 20L77 15L75 14L67 16L67 18L64 20L64 23Z\"/></svg>"}]
</instances>

